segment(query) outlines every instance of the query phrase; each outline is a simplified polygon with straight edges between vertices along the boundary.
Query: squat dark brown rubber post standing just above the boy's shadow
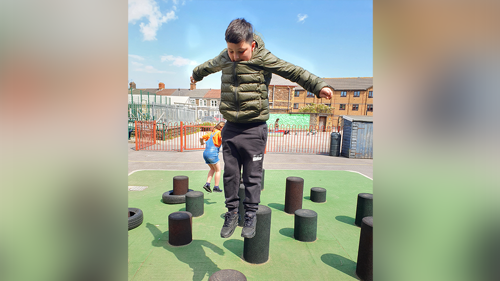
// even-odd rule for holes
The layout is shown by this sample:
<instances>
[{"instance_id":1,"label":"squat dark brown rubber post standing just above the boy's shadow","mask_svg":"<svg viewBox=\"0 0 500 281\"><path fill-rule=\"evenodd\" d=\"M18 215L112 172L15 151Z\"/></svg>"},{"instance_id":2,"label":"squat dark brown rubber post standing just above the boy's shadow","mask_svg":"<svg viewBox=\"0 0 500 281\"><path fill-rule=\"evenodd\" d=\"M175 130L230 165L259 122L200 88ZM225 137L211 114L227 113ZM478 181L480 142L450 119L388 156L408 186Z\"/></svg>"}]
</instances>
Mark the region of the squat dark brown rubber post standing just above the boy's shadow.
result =
<instances>
[{"instance_id":1,"label":"squat dark brown rubber post standing just above the boy's shadow","mask_svg":"<svg viewBox=\"0 0 500 281\"><path fill-rule=\"evenodd\" d=\"M169 243L172 246L188 245L193 241L193 216L179 211L169 214Z\"/></svg>"}]
</instances>

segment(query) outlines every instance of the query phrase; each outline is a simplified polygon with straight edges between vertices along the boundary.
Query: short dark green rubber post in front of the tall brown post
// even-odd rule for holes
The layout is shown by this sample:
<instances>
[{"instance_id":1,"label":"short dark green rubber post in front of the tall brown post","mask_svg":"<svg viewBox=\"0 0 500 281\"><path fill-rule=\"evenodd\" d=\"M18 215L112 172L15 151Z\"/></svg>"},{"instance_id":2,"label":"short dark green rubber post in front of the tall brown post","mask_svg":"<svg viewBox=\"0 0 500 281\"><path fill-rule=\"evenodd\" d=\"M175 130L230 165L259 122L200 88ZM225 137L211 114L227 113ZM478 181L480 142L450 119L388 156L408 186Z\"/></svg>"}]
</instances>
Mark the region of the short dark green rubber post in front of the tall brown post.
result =
<instances>
[{"instance_id":1,"label":"short dark green rubber post in front of the tall brown post","mask_svg":"<svg viewBox=\"0 0 500 281\"><path fill-rule=\"evenodd\" d=\"M295 211L294 238L302 242L316 241L318 213L313 210L299 209Z\"/></svg>"}]
</instances>

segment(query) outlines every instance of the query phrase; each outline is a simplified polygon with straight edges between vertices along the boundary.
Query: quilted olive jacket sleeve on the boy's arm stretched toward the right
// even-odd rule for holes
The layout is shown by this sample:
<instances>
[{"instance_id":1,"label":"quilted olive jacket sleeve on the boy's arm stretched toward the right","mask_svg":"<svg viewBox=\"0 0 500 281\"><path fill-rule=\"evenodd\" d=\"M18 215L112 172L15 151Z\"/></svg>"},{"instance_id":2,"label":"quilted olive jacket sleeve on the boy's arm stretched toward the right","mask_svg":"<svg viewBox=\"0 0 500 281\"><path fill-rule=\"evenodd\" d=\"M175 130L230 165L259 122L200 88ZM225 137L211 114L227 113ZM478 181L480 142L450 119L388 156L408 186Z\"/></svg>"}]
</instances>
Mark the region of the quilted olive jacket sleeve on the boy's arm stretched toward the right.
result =
<instances>
[{"instance_id":1,"label":"quilted olive jacket sleeve on the boy's arm stretched toward the right","mask_svg":"<svg viewBox=\"0 0 500 281\"><path fill-rule=\"evenodd\" d=\"M295 64L279 59L270 52L263 56L263 68L265 71L272 72L301 85L302 88L308 92L314 93L318 98L321 89L325 87L331 89L331 87L320 77Z\"/></svg>"}]
</instances>

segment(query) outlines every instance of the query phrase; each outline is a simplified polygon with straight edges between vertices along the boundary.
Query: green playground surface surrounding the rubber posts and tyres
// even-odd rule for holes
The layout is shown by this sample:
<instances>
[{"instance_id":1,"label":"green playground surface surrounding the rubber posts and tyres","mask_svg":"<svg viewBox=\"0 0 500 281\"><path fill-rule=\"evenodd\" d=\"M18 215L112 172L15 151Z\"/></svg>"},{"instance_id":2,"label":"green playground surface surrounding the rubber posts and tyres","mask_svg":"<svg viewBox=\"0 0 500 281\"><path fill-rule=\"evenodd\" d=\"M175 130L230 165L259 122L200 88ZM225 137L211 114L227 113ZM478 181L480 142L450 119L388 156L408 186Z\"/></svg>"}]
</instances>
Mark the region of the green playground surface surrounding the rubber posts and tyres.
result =
<instances>
[{"instance_id":1,"label":"green playground surface surrounding the rubber posts and tyres","mask_svg":"<svg viewBox=\"0 0 500 281\"><path fill-rule=\"evenodd\" d=\"M261 205L272 210L269 259L263 264L243 260L241 227L223 239L224 193L208 193L202 185L208 170L140 170L129 176L129 207L143 212L143 222L128 231L129 280L208 280L216 271L235 269L247 280L358 280L356 262L360 228L355 225L359 193L373 193L373 181L350 171L265 170ZM169 214L185 204L164 204L163 192L173 189L173 177L188 176L189 188L203 191L204 213L193 218L193 241L169 244ZM283 211L287 177L304 179L302 208L318 213L317 240L294 239L294 215ZM213 180L212 180L213 187ZM310 201L310 188L327 190L326 202ZM221 188L222 179L221 179Z\"/></svg>"}]
</instances>

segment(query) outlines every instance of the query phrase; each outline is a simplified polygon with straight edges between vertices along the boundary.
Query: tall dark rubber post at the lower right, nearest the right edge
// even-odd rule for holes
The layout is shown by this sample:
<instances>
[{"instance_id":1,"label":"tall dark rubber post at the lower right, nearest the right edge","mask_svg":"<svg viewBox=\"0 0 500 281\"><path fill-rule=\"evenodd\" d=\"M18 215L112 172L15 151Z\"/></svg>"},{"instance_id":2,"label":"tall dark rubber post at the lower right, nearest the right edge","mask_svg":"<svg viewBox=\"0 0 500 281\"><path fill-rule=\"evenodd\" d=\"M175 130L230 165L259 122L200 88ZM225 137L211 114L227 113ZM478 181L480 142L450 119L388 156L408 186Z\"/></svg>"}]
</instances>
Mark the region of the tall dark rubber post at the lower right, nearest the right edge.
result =
<instances>
[{"instance_id":1,"label":"tall dark rubber post at the lower right, nearest the right edge","mask_svg":"<svg viewBox=\"0 0 500 281\"><path fill-rule=\"evenodd\" d=\"M356 274L363 281L373 280L373 217L361 220Z\"/></svg>"}]
</instances>

